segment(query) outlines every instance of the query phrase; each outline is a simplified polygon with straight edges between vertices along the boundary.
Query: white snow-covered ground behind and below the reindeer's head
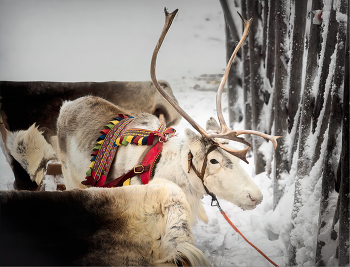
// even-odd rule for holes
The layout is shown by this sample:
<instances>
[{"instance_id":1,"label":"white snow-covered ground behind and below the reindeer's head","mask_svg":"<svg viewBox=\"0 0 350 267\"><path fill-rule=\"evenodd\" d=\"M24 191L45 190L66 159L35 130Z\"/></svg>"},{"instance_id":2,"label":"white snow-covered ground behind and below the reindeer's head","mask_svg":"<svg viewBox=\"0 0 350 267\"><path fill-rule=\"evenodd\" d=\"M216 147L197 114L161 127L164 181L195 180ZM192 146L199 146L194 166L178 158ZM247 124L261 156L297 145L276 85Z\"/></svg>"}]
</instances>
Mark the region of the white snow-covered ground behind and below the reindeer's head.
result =
<instances>
[{"instance_id":1,"label":"white snow-covered ground behind and below the reindeer's head","mask_svg":"<svg viewBox=\"0 0 350 267\"><path fill-rule=\"evenodd\" d=\"M171 84L182 108L204 127L210 116L216 117L218 81L208 75L223 74L226 62L219 1L0 0L0 79L150 80L164 7L179 13L158 56L157 77ZM226 93L223 108L227 120ZM175 128L183 135L186 127L182 120ZM13 174L2 153L0 157L0 189L13 189ZM252 175L253 159L248 161L241 164ZM264 195L256 209L242 211L224 200L220 204L248 240L286 265L293 185L286 186L288 193L273 212L271 180L266 173L253 179ZM210 197L203 202L209 223L199 222L193 232L213 266L271 266L210 206Z\"/></svg>"}]
</instances>

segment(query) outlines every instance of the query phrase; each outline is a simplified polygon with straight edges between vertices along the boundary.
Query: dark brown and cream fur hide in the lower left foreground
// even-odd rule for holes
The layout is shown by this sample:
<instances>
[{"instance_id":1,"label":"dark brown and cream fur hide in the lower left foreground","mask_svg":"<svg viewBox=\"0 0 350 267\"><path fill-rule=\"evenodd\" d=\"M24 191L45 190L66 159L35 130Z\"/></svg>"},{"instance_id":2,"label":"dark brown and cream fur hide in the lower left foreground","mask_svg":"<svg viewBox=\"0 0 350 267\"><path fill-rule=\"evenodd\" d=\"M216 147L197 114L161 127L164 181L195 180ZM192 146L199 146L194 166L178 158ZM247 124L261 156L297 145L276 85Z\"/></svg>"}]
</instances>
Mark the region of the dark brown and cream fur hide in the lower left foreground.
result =
<instances>
[{"instance_id":1,"label":"dark brown and cream fur hide in the lower left foreground","mask_svg":"<svg viewBox=\"0 0 350 267\"><path fill-rule=\"evenodd\" d=\"M199 253L175 184L1 192L1 265L148 266ZM190 248L182 253L183 247Z\"/></svg>"}]
</instances>

